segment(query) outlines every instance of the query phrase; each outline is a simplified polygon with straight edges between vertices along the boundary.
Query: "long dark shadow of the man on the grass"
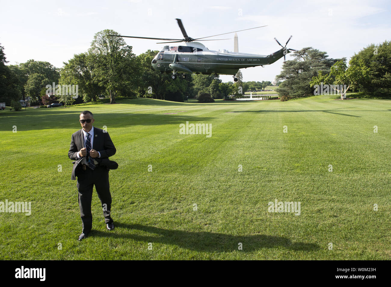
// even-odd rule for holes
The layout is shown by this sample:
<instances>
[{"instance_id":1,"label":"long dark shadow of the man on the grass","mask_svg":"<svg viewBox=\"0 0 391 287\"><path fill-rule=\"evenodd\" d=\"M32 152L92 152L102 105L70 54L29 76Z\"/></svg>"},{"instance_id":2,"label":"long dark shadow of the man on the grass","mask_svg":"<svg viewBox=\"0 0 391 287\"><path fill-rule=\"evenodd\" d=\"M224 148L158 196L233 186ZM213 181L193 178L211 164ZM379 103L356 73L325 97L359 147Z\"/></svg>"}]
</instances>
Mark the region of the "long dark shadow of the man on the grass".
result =
<instances>
[{"instance_id":1,"label":"long dark shadow of the man on the grass","mask_svg":"<svg viewBox=\"0 0 391 287\"><path fill-rule=\"evenodd\" d=\"M238 250L242 243L244 252L260 250L261 248L283 247L290 250L319 250L314 243L291 242L288 238L271 235L230 235L214 232L188 232L182 230L170 230L139 224L116 223L116 228L140 230L151 235L117 234L114 232L101 232L94 230L91 236L129 238L136 241L145 241L161 244L173 244L180 248L203 252L231 252Z\"/></svg>"}]
</instances>

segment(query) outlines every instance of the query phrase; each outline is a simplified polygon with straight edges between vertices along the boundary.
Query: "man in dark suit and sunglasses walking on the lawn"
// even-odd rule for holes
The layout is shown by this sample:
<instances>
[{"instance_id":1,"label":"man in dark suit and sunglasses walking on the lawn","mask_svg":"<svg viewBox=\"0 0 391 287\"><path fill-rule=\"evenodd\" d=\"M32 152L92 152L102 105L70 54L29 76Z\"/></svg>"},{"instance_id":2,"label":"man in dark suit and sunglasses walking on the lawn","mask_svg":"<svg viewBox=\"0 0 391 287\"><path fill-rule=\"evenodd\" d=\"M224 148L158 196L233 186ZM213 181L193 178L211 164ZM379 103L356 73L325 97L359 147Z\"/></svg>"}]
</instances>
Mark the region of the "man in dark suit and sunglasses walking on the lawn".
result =
<instances>
[{"instance_id":1,"label":"man in dark suit and sunglasses walking on the lawn","mask_svg":"<svg viewBox=\"0 0 391 287\"><path fill-rule=\"evenodd\" d=\"M79 165L73 171L74 176L77 176L80 217L83 226L79 241L86 238L92 228L91 200L94 185L102 203L106 228L108 230L114 229L113 219L110 216L109 168L103 165L102 161L108 162L108 157L114 155L117 150L106 131L92 126L94 121L90 111L84 111L80 114L82 129L72 134L68 152L69 158L76 160Z\"/></svg>"}]
</instances>

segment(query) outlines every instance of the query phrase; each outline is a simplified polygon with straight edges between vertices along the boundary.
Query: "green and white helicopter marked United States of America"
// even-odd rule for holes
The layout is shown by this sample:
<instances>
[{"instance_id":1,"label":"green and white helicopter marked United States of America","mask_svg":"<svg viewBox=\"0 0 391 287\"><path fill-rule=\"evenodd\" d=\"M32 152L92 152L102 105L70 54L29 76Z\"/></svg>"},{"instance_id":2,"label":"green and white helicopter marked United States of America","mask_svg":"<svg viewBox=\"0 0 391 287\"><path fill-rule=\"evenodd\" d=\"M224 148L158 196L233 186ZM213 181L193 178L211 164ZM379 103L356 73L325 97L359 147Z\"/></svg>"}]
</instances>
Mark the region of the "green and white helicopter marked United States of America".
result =
<instances>
[{"instance_id":1,"label":"green and white helicopter marked United States of America","mask_svg":"<svg viewBox=\"0 0 391 287\"><path fill-rule=\"evenodd\" d=\"M139 38L139 39L154 39L154 40L164 40L169 42L158 42L156 44L168 44L168 43L182 43L182 45L174 46L165 45L163 49L154 57L152 60L152 67L155 70L160 71L161 73L167 73L171 75L171 78L175 80L177 74L181 73L181 78L187 78L187 73L192 74L203 74L203 75L233 75L233 80L235 82L238 79L235 77L239 69L270 65L276 62L278 59L284 57L287 53L291 51L296 51L294 49L286 48L289 40L292 36L289 37L288 41L285 43L285 46L282 46L276 38L274 38L278 45L282 48L270 55L258 55L258 54L248 54L248 53L239 53L239 52L228 52L227 50L213 51L209 50L199 41L213 41L213 40L228 40L228 39L208 39L205 38L221 36L225 34L240 32L244 30L251 30L256 28L262 28L265 26L254 27L250 29L244 29L239 31L233 31L223 34L217 34L213 36L201 37L201 38L192 38L189 37L186 33L185 27L183 26L182 20L176 18L179 29L183 34L183 39L165 39L165 38L151 38L151 37L135 37L135 36L122 36L122 35L108 35L115 37L127 37L127 38Z\"/></svg>"}]
</instances>

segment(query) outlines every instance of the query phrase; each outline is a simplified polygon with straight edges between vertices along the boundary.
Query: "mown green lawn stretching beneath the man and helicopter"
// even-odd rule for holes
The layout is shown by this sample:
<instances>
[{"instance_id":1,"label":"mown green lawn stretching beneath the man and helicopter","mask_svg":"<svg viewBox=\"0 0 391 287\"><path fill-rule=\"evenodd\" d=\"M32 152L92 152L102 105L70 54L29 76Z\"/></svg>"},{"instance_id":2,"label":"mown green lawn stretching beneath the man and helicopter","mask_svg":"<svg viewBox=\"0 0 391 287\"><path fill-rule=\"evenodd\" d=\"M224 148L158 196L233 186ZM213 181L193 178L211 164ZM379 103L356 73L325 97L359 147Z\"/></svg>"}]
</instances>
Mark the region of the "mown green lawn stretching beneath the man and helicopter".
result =
<instances>
[{"instance_id":1,"label":"mown green lawn stretching beneath the man and helicopter","mask_svg":"<svg viewBox=\"0 0 391 287\"><path fill-rule=\"evenodd\" d=\"M94 191L93 231L78 242L68 149L84 109L107 126L119 168L115 230ZM390 259L390 119L390 100L329 96L1 111L0 201L32 211L0 213L0 259ZM212 137L179 134L186 121L212 124ZM275 199L300 202L300 216L268 212Z\"/></svg>"}]
</instances>

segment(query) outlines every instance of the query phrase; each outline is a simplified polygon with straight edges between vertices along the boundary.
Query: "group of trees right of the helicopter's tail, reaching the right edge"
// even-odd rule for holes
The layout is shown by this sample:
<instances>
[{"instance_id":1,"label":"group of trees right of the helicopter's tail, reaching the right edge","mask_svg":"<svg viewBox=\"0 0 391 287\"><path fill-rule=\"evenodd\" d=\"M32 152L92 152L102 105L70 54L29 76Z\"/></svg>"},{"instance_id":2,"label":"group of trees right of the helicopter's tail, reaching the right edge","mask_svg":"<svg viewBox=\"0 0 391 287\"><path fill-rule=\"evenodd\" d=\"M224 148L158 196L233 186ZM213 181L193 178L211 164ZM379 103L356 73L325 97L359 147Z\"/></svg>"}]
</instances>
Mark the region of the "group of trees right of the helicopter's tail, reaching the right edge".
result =
<instances>
[{"instance_id":1,"label":"group of trees right of the helicopter's tail, reaching the right edge","mask_svg":"<svg viewBox=\"0 0 391 287\"><path fill-rule=\"evenodd\" d=\"M390 41L363 48L350 59L349 66L346 58L332 59L312 47L296 51L293 56L293 60L284 62L280 75L276 76L276 80L283 81L276 90L282 100L319 94L320 85L328 93L336 91L341 97L346 97L346 92L358 93L359 97L391 95Z\"/></svg>"}]
</instances>

